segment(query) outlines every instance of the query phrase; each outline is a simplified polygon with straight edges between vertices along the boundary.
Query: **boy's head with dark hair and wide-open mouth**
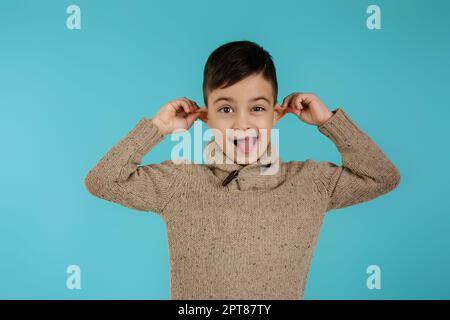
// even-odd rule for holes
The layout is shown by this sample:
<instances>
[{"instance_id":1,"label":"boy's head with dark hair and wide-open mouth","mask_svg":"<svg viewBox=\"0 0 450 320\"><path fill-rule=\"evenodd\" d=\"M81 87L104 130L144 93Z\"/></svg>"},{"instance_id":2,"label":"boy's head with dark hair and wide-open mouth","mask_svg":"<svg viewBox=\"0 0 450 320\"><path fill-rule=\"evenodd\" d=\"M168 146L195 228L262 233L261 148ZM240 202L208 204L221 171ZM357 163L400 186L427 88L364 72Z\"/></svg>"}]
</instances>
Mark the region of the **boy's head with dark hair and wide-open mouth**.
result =
<instances>
[{"instance_id":1,"label":"boy's head with dark hair and wide-open mouth","mask_svg":"<svg viewBox=\"0 0 450 320\"><path fill-rule=\"evenodd\" d=\"M202 120L230 159L249 164L265 152L283 115L277 94L275 66L261 46L234 41L211 53L203 78L208 112Z\"/></svg>"}]
</instances>

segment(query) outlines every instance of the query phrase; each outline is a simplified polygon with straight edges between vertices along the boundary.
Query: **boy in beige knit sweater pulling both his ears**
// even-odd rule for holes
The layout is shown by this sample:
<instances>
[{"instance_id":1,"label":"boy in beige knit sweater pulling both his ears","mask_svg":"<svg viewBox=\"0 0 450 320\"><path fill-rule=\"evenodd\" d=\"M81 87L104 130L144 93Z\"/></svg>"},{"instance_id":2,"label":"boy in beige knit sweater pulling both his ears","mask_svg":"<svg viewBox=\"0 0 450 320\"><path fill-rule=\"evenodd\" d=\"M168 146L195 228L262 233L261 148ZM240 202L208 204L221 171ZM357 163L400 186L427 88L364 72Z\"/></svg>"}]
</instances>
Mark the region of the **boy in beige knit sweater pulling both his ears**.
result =
<instances>
[{"instance_id":1,"label":"boy in beige knit sweater pulling both his ears","mask_svg":"<svg viewBox=\"0 0 450 320\"><path fill-rule=\"evenodd\" d=\"M303 299L324 214L399 184L396 167L342 108L329 111L305 93L279 105L277 90L267 51L224 44L205 66L204 107L180 98L142 117L86 176L93 195L162 216L172 299ZM283 162L269 137L287 113L330 138L342 165ZM206 164L141 165L167 134L197 119L214 129Z\"/></svg>"}]
</instances>

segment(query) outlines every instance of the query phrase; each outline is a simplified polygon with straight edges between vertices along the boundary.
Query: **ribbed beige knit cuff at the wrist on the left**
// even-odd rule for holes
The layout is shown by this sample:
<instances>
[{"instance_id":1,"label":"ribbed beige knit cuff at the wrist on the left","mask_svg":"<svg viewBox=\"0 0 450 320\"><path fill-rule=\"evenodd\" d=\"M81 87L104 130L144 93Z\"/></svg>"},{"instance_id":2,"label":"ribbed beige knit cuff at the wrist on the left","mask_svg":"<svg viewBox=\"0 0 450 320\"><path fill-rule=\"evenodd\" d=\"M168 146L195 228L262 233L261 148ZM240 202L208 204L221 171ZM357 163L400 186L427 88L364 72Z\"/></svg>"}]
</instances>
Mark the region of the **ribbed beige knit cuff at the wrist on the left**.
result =
<instances>
[{"instance_id":1,"label":"ribbed beige knit cuff at the wrist on the left","mask_svg":"<svg viewBox=\"0 0 450 320\"><path fill-rule=\"evenodd\" d=\"M128 136L134 139L145 153L165 137L151 118L145 116L139 120Z\"/></svg>"}]
</instances>

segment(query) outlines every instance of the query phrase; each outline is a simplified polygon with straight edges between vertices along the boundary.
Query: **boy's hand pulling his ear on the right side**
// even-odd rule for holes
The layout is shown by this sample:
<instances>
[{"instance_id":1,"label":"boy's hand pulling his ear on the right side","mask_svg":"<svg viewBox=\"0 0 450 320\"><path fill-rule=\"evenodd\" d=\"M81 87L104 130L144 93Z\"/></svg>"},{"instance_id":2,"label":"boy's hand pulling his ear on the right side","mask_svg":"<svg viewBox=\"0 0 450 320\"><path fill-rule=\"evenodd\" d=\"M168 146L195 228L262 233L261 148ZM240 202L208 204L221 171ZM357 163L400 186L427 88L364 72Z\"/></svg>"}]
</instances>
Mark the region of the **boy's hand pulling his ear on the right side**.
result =
<instances>
[{"instance_id":1,"label":"boy's hand pulling his ear on the right side","mask_svg":"<svg viewBox=\"0 0 450 320\"><path fill-rule=\"evenodd\" d=\"M291 93L283 99L281 108L285 108L285 113L291 112L303 122L316 126L320 126L333 115L312 93Z\"/></svg>"}]
</instances>

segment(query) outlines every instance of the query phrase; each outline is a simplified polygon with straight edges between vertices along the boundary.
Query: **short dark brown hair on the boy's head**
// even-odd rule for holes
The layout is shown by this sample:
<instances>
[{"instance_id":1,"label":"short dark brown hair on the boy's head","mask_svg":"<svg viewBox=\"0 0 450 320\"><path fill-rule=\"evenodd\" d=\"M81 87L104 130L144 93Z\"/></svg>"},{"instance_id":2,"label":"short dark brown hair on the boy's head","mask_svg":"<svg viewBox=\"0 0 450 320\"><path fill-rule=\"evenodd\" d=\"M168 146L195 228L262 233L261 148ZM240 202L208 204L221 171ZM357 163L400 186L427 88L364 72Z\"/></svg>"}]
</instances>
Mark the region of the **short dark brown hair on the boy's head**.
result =
<instances>
[{"instance_id":1,"label":"short dark brown hair on the boy's head","mask_svg":"<svg viewBox=\"0 0 450 320\"><path fill-rule=\"evenodd\" d=\"M228 42L215 49L205 64L203 72L203 100L217 88L226 88L253 74L262 72L272 84L276 103L278 83L272 56L260 45L251 41Z\"/></svg>"}]
</instances>

